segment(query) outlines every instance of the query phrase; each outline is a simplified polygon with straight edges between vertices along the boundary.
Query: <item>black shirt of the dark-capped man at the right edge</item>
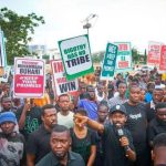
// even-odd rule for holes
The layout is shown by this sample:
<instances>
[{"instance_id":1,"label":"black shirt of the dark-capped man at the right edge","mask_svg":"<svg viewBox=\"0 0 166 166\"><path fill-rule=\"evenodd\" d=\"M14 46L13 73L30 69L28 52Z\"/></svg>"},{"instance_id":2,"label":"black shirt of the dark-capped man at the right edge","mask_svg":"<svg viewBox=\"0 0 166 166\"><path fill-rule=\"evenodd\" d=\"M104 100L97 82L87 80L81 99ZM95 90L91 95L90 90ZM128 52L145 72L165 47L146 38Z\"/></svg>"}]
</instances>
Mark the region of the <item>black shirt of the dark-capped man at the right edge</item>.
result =
<instances>
[{"instance_id":1,"label":"black shirt of the dark-capped man at the right edge","mask_svg":"<svg viewBox=\"0 0 166 166\"><path fill-rule=\"evenodd\" d=\"M152 120L147 128L148 143L153 142L154 137L160 133L166 133L166 122L158 118Z\"/></svg>"}]
</instances>

